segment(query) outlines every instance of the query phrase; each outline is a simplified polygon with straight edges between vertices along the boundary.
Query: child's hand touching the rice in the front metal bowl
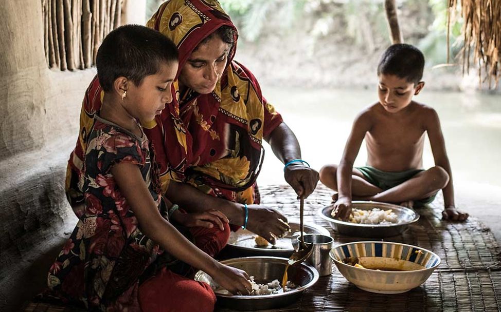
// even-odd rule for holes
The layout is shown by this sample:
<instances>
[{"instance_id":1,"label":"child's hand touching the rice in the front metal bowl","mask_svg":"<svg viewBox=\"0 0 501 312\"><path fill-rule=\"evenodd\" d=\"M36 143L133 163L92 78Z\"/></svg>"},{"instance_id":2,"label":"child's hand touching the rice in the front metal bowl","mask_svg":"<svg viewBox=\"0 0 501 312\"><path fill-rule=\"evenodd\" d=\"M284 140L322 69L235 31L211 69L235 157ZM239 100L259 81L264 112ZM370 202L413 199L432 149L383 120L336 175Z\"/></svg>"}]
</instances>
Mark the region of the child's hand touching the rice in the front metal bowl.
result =
<instances>
[{"instance_id":1,"label":"child's hand touching the rice in the front metal bowl","mask_svg":"<svg viewBox=\"0 0 501 312\"><path fill-rule=\"evenodd\" d=\"M247 272L219 263L212 279L231 294L249 295L252 285Z\"/></svg>"}]
</instances>

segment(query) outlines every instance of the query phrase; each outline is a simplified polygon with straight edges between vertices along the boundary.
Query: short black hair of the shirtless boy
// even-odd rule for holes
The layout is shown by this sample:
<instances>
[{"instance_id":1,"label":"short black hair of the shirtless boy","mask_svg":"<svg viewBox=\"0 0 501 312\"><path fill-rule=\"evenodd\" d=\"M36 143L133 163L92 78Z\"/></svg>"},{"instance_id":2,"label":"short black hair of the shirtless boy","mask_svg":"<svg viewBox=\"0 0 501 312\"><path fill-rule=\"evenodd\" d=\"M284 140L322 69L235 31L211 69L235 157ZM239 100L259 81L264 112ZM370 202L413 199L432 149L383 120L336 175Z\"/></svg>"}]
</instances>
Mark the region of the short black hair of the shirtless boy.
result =
<instances>
[{"instance_id":1,"label":"short black hair of the shirtless boy","mask_svg":"<svg viewBox=\"0 0 501 312\"><path fill-rule=\"evenodd\" d=\"M417 85L423 77L423 69L423 53L414 46L399 43L391 45L384 51L378 65L378 76L396 75Z\"/></svg>"}]
</instances>

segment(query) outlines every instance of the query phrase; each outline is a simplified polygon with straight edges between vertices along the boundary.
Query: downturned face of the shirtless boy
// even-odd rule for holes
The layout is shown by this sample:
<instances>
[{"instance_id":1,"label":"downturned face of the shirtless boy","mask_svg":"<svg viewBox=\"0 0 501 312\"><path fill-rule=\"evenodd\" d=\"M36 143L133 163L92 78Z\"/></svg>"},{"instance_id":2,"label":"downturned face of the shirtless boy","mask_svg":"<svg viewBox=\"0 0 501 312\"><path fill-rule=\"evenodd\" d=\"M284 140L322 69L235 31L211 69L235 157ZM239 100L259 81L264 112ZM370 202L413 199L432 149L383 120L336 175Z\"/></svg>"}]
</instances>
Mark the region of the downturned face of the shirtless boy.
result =
<instances>
[{"instance_id":1,"label":"downturned face of the shirtless boy","mask_svg":"<svg viewBox=\"0 0 501 312\"><path fill-rule=\"evenodd\" d=\"M379 103L387 112L396 113L410 104L424 86L424 82L416 86L405 78L391 74L380 74L378 85Z\"/></svg>"}]
</instances>

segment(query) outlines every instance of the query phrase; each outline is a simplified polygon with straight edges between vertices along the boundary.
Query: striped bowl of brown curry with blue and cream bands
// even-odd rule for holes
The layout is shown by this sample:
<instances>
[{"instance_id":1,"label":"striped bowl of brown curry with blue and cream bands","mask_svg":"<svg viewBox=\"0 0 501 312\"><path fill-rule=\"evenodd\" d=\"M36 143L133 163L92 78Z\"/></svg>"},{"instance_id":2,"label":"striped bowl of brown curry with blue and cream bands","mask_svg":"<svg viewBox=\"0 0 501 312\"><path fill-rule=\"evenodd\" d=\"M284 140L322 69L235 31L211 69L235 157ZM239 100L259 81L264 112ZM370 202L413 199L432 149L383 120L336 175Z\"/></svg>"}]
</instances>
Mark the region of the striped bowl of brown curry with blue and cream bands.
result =
<instances>
[{"instance_id":1,"label":"striped bowl of brown curry with blue and cream bands","mask_svg":"<svg viewBox=\"0 0 501 312\"><path fill-rule=\"evenodd\" d=\"M440 265L440 258L424 248L390 242L353 242L331 249L341 274L355 286L380 294L405 293L424 283ZM359 268L343 260L356 257Z\"/></svg>"}]
</instances>

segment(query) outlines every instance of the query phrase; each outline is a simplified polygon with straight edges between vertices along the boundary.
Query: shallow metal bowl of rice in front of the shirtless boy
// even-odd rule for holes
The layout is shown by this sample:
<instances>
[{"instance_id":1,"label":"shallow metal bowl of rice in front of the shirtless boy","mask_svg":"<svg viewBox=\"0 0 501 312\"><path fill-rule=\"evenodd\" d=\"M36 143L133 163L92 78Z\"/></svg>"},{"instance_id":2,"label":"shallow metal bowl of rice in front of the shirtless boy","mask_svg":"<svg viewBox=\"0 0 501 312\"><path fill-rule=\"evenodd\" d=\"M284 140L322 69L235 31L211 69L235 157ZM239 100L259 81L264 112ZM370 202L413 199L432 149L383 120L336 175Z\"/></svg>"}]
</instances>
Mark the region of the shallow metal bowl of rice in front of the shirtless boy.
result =
<instances>
[{"instance_id":1,"label":"shallow metal bowl of rice in front of the shirtless boy","mask_svg":"<svg viewBox=\"0 0 501 312\"><path fill-rule=\"evenodd\" d=\"M391 209L398 216L399 223L396 224L359 224L337 220L331 217L333 205L320 208L318 213L320 218L329 221L331 227L338 233L367 238L385 238L400 235L407 229L409 224L419 220L419 213L413 209L379 202L353 201L352 207L361 210L371 210L380 208L383 210Z\"/></svg>"}]
</instances>

